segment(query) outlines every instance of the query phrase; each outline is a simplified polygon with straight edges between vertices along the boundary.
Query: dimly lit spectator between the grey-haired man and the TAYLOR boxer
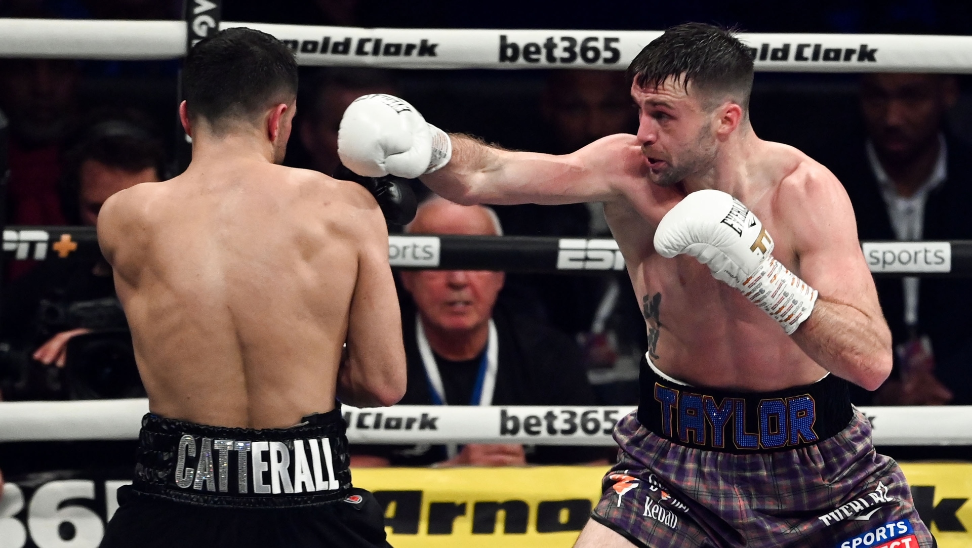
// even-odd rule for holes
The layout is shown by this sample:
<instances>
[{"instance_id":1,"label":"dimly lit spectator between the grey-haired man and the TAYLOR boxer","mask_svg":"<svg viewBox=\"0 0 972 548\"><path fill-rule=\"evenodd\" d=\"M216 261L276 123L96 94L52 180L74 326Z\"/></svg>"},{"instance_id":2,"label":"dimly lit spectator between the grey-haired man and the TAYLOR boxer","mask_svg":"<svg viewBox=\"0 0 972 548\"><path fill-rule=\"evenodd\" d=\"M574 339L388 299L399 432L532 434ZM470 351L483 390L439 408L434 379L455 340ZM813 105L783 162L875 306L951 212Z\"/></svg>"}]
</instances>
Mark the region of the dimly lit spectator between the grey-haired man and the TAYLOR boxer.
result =
<instances>
[{"instance_id":1,"label":"dimly lit spectator between the grey-haired man and the TAYLOR boxer","mask_svg":"<svg viewBox=\"0 0 972 548\"><path fill-rule=\"evenodd\" d=\"M551 154L567 154L614 133L638 127L631 83L619 71L551 70L540 95L541 130ZM497 213L512 234L610 238L601 203L504 206ZM575 335L602 403L638 402L645 330L631 283L623 272L599 277L517 275L533 288L555 327Z\"/></svg>"}]
</instances>

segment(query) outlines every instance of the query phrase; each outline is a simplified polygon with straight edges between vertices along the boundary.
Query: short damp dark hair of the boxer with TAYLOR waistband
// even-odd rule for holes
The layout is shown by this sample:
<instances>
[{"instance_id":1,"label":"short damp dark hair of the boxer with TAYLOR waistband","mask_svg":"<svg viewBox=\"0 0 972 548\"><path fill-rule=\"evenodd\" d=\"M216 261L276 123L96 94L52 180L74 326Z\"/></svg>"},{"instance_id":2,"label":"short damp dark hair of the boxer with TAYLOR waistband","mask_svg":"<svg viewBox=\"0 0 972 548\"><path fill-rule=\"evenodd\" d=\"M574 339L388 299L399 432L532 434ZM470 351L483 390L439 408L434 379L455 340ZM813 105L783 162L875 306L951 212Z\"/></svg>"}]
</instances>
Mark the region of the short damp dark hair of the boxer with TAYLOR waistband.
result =
<instances>
[{"instance_id":1,"label":"short damp dark hair of the boxer with TAYLOR waistband","mask_svg":"<svg viewBox=\"0 0 972 548\"><path fill-rule=\"evenodd\" d=\"M644 47L628 66L628 78L641 87L661 86L669 78L686 89L734 93L744 110L752 91L752 54L736 31L705 23L667 29Z\"/></svg>"}]
</instances>

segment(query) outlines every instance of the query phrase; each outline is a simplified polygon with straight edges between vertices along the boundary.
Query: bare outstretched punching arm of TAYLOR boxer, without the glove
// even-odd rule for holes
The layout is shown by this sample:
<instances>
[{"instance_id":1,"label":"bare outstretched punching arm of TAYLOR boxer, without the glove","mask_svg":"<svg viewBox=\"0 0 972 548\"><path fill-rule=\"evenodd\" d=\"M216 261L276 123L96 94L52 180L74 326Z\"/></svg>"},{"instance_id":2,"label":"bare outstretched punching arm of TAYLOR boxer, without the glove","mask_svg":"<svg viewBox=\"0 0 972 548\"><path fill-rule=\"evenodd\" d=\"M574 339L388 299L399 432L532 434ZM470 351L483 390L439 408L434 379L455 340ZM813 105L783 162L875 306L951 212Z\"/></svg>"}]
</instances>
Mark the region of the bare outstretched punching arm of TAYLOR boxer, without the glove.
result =
<instances>
[{"instance_id":1,"label":"bare outstretched punching arm of TAYLOR boxer, without the glove","mask_svg":"<svg viewBox=\"0 0 972 548\"><path fill-rule=\"evenodd\" d=\"M456 203L558 205L610 201L645 177L634 135L599 139L563 155L504 151L466 135L450 135L452 158L422 182Z\"/></svg>"}]
</instances>

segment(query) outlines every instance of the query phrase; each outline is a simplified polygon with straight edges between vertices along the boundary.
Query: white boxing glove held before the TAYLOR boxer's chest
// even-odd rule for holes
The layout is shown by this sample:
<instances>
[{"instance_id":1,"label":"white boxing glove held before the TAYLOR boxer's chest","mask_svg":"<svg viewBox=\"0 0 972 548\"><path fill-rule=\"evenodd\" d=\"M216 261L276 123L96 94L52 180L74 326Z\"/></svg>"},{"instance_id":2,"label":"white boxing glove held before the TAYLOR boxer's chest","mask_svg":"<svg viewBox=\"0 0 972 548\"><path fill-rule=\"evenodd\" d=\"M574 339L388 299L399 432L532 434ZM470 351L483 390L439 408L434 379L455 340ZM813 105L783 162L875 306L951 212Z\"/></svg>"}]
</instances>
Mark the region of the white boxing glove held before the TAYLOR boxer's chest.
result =
<instances>
[{"instance_id":1,"label":"white boxing glove held before the TAYLOR boxer's chest","mask_svg":"<svg viewBox=\"0 0 972 548\"><path fill-rule=\"evenodd\" d=\"M655 230L662 257L699 259L712 276L742 291L787 334L810 317L816 290L774 258L773 238L742 202L721 190L698 190L672 208Z\"/></svg>"}]
</instances>

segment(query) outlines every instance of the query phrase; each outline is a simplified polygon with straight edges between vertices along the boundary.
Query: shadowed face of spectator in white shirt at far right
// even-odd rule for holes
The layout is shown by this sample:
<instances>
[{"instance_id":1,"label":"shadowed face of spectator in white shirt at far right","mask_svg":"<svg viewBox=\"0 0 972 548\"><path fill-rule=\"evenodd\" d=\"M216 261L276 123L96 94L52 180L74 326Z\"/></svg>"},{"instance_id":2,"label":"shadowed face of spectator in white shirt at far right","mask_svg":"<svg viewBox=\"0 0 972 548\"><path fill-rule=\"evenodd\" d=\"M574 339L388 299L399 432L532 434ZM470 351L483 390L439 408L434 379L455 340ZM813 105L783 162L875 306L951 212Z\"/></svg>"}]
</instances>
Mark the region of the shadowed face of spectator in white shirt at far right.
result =
<instances>
[{"instance_id":1,"label":"shadowed face of spectator in white shirt at far right","mask_svg":"<svg viewBox=\"0 0 972 548\"><path fill-rule=\"evenodd\" d=\"M934 74L871 74L861 80L867 132L888 159L914 158L935 142L955 104L955 82Z\"/></svg>"}]
</instances>

